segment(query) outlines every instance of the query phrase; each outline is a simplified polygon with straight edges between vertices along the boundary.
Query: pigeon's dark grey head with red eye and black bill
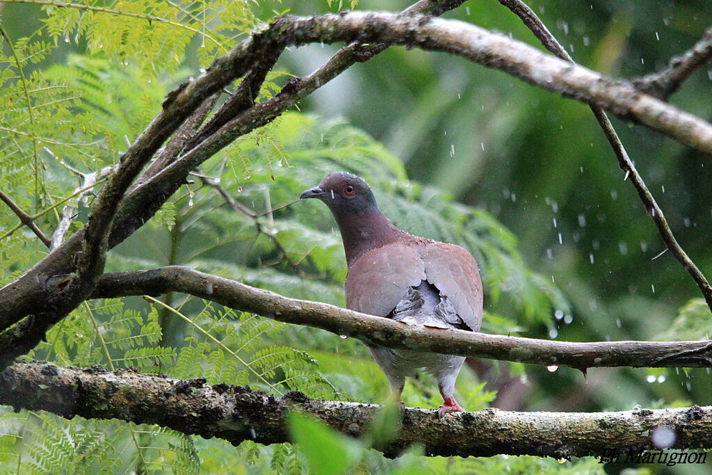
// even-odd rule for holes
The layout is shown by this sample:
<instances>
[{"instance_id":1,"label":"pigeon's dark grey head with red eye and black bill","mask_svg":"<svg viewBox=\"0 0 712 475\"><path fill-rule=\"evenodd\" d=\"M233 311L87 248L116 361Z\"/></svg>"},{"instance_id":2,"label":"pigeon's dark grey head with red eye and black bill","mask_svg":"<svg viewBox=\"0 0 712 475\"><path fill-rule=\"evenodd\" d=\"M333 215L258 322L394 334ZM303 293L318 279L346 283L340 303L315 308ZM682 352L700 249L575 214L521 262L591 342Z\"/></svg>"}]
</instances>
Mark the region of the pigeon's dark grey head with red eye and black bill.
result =
<instances>
[{"instance_id":1,"label":"pigeon's dark grey head with red eye and black bill","mask_svg":"<svg viewBox=\"0 0 712 475\"><path fill-rule=\"evenodd\" d=\"M331 172L321 180L318 187L305 190L299 197L320 199L334 216L361 214L378 209L368 184L347 172Z\"/></svg>"}]
</instances>

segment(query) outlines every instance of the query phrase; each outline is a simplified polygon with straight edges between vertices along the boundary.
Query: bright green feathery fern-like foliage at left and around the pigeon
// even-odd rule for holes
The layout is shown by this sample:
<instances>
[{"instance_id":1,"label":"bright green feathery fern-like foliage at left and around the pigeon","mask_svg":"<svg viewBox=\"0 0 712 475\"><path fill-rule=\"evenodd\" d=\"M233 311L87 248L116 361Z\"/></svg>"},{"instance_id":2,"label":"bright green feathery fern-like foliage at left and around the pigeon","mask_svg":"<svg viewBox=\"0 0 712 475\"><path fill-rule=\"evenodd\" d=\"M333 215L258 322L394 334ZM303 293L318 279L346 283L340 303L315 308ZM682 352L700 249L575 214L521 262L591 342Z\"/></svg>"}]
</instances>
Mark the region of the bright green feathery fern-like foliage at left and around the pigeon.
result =
<instances>
[{"instance_id":1,"label":"bright green feathery fern-like foliage at left and around the pigeon","mask_svg":"<svg viewBox=\"0 0 712 475\"><path fill-rule=\"evenodd\" d=\"M357 2L326 4L341 9L354 8ZM56 228L61 207L70 204L77 209L73 223L77 229L85 222L91 201L77 199L74 170L87 174L115 165L127 142L157 113L167 90L208 66L261 18L273 14L274 7L279 5L247 0L187 4L92 0L61 8L44 6L40 28L0 51L0 188L46 231ZM61 61L52 55L61 56ZM192 58L197 63L191 63ZM269 73L258 100L277 93L284 75ZM445 109L434 110L428 103L418 110L432 120ZM496 133L504 135L511 127L503 125ZM199 171L214 177L217 185L194 177L194 183L167 202L155 219L111 251L108 270L181 264L295 298L342 305L346 268L328 211L313 202L277 209L335 169L367 179L397 226L460 244L476 256L488 292L484 331L552 330L553 315L572 313L553 280L525 265L518 240L492 214L409 181L398 157L345 120L303 113L285 114L216 154ZM219 191L241 207L230 207ZM0 207L0 244L0 284L45 252L6 207ZM671 334L701 338L708 315L700 315L700 304L691 303ZM210 383L251 385L276 394L299 390L311 397L342 400L380 402L387 388L357 341L175 295L82 305L30 356L61 365L135 367L172 377L206 377ZM523 374L522 368L510 367L517 375ZM439 404L434 387L430 375L419 373L407 385L404 400L434 407ZM456 392L469 410L487 407L496 396L467 369ZM387 434L380 429L375 427L374 434ZM424 460L417 448L392 461L370 449L376 436L353 441L303 419L295 419L293 430L303 442L305 434L318 433L323 444L262 447L245 442L235 448L155 426L66 421L3 409L0 471L219 473L244 466L245 473L299 474L308 467L318 471L315 460L325 447L347 454L343 461L352 473L600 469L591 460L563 464L506 456Z\"/></svg>"}]
</instances>

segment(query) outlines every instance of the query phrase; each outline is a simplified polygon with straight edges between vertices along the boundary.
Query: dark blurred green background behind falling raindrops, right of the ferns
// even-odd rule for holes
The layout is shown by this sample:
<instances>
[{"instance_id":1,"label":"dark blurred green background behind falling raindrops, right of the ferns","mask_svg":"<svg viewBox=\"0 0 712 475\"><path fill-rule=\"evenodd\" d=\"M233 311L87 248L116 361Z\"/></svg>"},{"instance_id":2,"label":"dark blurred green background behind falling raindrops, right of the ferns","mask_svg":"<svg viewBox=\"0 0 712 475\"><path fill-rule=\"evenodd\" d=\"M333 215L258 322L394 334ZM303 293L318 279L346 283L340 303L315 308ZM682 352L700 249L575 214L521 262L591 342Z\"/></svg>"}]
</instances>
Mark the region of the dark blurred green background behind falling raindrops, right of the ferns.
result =
<instances>
[{"instance_id":1,"label":"dark blurred green background behind falling raindrops, right of the ferns","mask_svg":"<svg viewBox=\"0 0 712 475\"><path fill-rule=\"evenodd\" d=\"M609 77L629 80L664 68L671 56L690 48L712 25L708 0L528 3L577 63ZM323 0L245 5L262 20L286 11L311 15L340 8L337 1L328 4ZM362 0L356 8L397 11L407 5L407 1ZM444 16L501 31L540 47L520 20L495 0L467 1ZM1 19L9 37L16 39L35 31L45 17L38 6L6 4ZM64 65L70 55L83 53L85 47L80 36L68 37L66 43L59 42L51 56L28 71L48 71L53 65ZM290 48L276 70L308 74L337 47ZM179 67L158 76L166 90L188 75L197 74L206 64L199 39L190 39L186 48ZM115 65L116 61L109 58L108 64ZM275 78L277 84L283 80ZM693 73L670 101L710 120L712 64ZM511 231L525 266L553 283L571 303L570 312L555 313L552 306L545 308L546 318L527 320L520 316L524 312L522 306L493 308L486 302L487 310L509 312L507 317L523 325L525 331L520 335L571 341L708 337L706 325L698 325L696 333L686 333L693 325L689 321L669 331L679 309L699 296L698 289L669 252L654 259L664 251L664 244L632 184L624 181L614 154L586 105L463 58L396 47L353 66L310 95L299 109L320 121L347 122L364 130L402 162L412 182L444 192L446 200L488 212ZM703 272L711 273L712 187L706 183L711 178L712 164L708 157L646 127L617 118L613 123L681 246ZM324 127L330 133L329 127ZM287 180L294 174L297 178L289 182L289 192L295 192L333 165L313 166L289 154L286 159L294 167L293 172L280 170L276 184L271 186L278 187L280 177ZM380 175L372 172L376 182L386 181L375 185L389 197L398 196L393 189L407 188L402 179L398 186L387 183L389 179L395 181L398 169L389 167ZM268 175L265 170L252 172L253 181L260 176L268 181ZM249 181L245 179L246 184ZM248 186L245 191L250 192ZM257 196L258 188L252 192ZM284 190L281 193L278 196L286 201L289 194ZM390 198L384 200L382 207L387 214L392 213L389 217L394 222L399 224L400 220L404 227L413 222L398 214L407 205L399 207ZM299 216L304 212L295 213ZM322 231L328 234L328 215L320 216ZM306 221L313 219L302 217ZM427 225L419 223L411 229L426 229ZM432 218L429 225L437 228L441 223ZM147 230L146 236L152 236L150 232L158 231ZM146 236L142 239L153 239ZM127 246L117 249L117 253L137 261L143 259L133 255L131 244ZM328 257L342 256L335 252ZM117 261L113 264L120 266ZM233 277L235 272L226 271ZM331 277L333 298L325 296L321 288L311 291L315 296L324 296L323 300L338 302L340 296L334 283L339 276ZM508 276L504 273L498 277L501 280L496 285L506 293ZM261 277L252 278L256 282ZM283 290L285 286L277 288ZM695 308L692 315L698 323L709 322L704 307ZM177 333L174 338L180 340L182 336ZM290 341L306 347L309 338L297 334ZM319 349L314 351L318 353ZM318 360L324 365L323 371L329 372L328 357ZM632 409L637 404L653 408L712 404L708 370L592 369L584 376L568 368L531 366L523 372L520 367L492 362L471 362L471 367L473 381L487 382L484 390L498 393L491 406L504 409L596 411ZM341 377L335 376L336 382ZM343 382L341 389L348 386ZM351 388L347 391L357 393ZM685 473L691 469L694 467L668 470Z\"/></svg>"}]
</instances>

